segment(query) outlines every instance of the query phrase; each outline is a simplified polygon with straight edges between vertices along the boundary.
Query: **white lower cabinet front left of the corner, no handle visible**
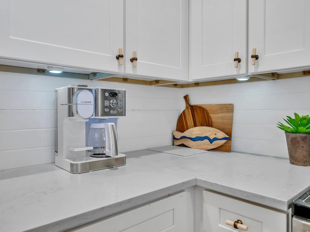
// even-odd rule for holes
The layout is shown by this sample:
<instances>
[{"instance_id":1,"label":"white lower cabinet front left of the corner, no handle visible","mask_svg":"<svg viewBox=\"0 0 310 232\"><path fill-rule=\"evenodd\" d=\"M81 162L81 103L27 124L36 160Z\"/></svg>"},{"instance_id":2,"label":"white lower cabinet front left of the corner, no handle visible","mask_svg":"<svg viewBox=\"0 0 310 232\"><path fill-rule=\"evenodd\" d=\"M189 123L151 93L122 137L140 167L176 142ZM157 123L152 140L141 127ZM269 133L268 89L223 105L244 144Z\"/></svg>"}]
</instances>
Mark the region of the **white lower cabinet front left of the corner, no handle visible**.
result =
<instances>
[{"instance_id":1,"label":"white lower cabinet front left of the corner, no handle visible","mask_svg":"<svg viewBox=\"0 0 310 232\"><path fill-rule=\"evenodd\" d=\"M188 232L186 191L67 232Z\"/></svg>"}]
</instances>

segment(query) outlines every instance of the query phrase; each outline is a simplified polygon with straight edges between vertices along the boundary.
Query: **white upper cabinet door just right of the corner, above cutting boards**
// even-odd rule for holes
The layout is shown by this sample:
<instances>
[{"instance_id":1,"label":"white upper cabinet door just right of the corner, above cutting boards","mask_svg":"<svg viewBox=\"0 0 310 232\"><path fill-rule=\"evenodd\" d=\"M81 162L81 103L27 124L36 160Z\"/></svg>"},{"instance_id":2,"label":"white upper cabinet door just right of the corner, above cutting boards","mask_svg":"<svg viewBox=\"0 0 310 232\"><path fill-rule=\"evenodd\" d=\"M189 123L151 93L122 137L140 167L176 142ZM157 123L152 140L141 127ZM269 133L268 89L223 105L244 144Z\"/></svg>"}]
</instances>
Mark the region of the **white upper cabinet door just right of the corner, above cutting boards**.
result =
<instances>
[{"instance_id":1,"label":"white upper cabinet door just right of the corner, above cutting boards","mask_svg":"<svg viewBox=\"0 0 310 232\"><path fill-rule=\"evenodd\" d=\"M246 74L247 0L192 0L189 9L189 79Z\"/></svg>"}]
</instances>

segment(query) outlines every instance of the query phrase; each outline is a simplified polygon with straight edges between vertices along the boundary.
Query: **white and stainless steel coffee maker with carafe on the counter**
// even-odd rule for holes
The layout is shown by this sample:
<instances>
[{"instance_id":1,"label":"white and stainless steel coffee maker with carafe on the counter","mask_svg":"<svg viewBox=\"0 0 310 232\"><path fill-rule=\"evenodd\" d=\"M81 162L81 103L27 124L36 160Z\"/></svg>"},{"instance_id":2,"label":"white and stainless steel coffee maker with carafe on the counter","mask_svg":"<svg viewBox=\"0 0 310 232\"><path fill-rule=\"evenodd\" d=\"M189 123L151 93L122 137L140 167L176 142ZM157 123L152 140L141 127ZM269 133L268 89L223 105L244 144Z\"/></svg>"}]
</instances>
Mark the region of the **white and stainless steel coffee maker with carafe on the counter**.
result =
<instances>
[{"instance_id":1,"label":"white and stainless steel coffee maker with carafe on the counter","mask_svg":"<svg viewBox=\"0 0 310 232\"><path fill-rule=\"evenodd\" d=\"M55 165L70 173L125 165L117 137L125 90L72 85L55 94Z\"/></svg>"}]
</instances>

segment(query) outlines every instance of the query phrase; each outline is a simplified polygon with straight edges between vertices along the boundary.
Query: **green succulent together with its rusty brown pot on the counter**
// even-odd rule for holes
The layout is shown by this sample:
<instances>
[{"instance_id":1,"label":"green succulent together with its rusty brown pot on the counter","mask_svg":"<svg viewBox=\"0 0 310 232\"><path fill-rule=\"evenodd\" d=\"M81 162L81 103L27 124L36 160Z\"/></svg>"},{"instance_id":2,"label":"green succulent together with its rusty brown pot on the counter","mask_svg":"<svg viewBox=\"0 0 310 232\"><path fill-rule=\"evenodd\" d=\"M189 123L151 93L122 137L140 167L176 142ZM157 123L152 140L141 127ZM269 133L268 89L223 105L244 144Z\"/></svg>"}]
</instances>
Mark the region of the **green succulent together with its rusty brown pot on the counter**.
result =
<instances>
[{"instance_id":1,"label":"green succulent together with its rusty brown pot on the counter","mask_svg":"<svg viewBox=\"0 0 310 232\"><path fill-rule=\"evenodd\" d=\"M284 119L284 118L283 118ZM288 126L279 122L277 127L285 131L290 163L298 166L310 166L310 117L287 116L284 121Z\"/></svg>"}]
</instances>

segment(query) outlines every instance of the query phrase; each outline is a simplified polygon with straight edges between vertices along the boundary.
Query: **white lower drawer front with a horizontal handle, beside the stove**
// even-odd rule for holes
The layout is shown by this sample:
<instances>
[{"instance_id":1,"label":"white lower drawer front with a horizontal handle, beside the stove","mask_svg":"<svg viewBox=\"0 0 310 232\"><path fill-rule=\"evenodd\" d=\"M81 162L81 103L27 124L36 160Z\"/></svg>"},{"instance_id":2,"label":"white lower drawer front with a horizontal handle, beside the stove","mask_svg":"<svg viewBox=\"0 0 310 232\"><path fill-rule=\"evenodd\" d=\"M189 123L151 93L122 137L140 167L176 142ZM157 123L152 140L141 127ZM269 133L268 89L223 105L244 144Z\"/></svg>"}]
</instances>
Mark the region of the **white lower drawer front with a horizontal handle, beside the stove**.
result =
<instances>
[{"instance_id":1,"label":"white lower drawer front with a horizontal handle, beside the stove","mask_svg":"<svg viewBox=\"0 0 310 232\"><path fill-rule=\"evenodd\" d=\"M203 191L203 231L242 232L226 220L241 220L248 232L286 232L287 212L264 208L207 190Z\"/></svg>"}]
</instances>

